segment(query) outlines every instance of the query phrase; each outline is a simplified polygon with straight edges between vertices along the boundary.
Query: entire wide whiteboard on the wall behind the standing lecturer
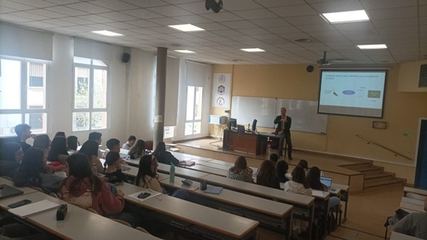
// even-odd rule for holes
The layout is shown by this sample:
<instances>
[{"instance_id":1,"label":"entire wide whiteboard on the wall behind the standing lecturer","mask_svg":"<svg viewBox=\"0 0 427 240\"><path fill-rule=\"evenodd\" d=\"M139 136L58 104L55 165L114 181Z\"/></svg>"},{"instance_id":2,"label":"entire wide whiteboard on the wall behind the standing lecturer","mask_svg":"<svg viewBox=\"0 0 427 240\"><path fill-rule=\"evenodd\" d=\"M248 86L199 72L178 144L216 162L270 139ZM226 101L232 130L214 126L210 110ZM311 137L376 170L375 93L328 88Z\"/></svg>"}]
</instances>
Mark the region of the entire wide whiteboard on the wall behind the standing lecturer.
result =
<instances>
[{"instance_id":1,"label":"entire wide whiteboard on the wall behind the standing lecturer","mask_svg":"<svg viewBox=\"0 0 427 240\"><path fill-rule=\"evenodd\" d=\"M285 107L292 118L291 131L326 133L328 115L318 114L317 105L317 101L310 100L233 96L231 117L237 119L237 124L247 126L257 119L257 126L273 128L275 117Z\"/></svg>"}]
</instances>

